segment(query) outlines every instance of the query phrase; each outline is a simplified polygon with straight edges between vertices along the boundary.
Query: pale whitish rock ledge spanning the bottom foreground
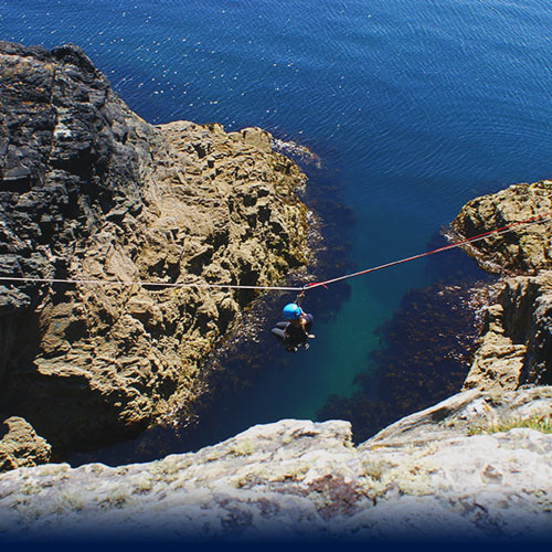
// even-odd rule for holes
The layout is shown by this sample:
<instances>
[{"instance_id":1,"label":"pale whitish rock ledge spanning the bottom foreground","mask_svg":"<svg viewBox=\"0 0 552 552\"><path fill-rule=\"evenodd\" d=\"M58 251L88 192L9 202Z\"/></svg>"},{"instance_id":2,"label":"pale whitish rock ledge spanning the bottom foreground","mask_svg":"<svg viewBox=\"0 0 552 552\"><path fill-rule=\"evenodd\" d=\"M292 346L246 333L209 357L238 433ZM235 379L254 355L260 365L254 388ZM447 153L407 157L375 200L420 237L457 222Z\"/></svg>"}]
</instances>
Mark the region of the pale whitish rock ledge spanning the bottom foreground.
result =
<instances>
[{"instance_id":1,"label":"pale whitish rock ledge spanning the bottom foreground","mask_svg":"<svg viewBox=\"0 0 552 552\"><path fill-rule=\"evenodd\" d=\"M18 469L0 476L0 534L539 540L552 434L521 426L551 412L552 388L471 390L359 447L346 422L288 420L150 464Z\"/></svg>"}]
</instances>

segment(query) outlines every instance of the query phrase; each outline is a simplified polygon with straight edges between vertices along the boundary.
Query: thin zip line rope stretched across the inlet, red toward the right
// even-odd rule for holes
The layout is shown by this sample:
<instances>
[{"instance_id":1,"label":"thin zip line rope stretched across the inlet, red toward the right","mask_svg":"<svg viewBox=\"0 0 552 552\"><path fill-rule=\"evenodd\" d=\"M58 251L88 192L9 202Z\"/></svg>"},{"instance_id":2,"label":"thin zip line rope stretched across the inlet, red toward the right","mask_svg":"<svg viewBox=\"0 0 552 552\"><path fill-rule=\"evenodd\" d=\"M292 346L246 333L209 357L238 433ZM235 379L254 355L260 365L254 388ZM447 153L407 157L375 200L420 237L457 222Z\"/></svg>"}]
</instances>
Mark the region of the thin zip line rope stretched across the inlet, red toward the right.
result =
<instances>
[{"instance_id":1,"label":"thin zip line rope stretched across the inlet, red toward the right","mask_svg":"<svg viewBox=\"0 0 552 552\"><path fill-rule=\"evenodd\" d=\"M24 282L24 283L36 283L36 284L87 284L87 285L99 285L99 286L155 286L155 287L172 287L172 288L215 288L215 289L259 289L265 291L306 291L308 289L314 289L315 287L327 287L329 284L335 284L336 282L341 282L349 278L354 278L357 276L361 276L363 274L373 273L376 270L382 270L384 268L389 268L391 266L400 265L403 263L408 263L411 261L415 261L417 258L426 257L428 255L434 255L435 253L442 253L444 251L453 250L455 247L460 247L461 245L471 244L475 242L479 242L480 240L485 240L486 237L495 234L506 234L508 232L512 232L518 226L529 226L532 224L541 224L543 222L550 222L552 220L552 213L545 213L542 215L535 215L530 219L526 219L524 221L513 222L511 224L507 224L506 226L501 226L499 229L489 230L488 232L484 232L482 234L478 234L473 237L467 237L465 240L460 240L458 242L454 242L452 244L445 245L443 247L437 247L436 250L427 251L425 253L418 253L417 255L412 255L410 257L404 257L397 261L392 261L390 263L385 263L383 265L373 266L371 268L367 268L364 270L359 270L352 274L346 274L343 276L338 276L337 278L327 279L323 282L311 282L305 284L301 287L293 287L293 286L241 286L237 284L208 284L208 283L167 283L167 282L120 282L120 280L107 280L107 279L64 279L64 278L34 278L34 277L19 277L19 276L0 276L0 282Z\"/></svg>"}]
</instances>

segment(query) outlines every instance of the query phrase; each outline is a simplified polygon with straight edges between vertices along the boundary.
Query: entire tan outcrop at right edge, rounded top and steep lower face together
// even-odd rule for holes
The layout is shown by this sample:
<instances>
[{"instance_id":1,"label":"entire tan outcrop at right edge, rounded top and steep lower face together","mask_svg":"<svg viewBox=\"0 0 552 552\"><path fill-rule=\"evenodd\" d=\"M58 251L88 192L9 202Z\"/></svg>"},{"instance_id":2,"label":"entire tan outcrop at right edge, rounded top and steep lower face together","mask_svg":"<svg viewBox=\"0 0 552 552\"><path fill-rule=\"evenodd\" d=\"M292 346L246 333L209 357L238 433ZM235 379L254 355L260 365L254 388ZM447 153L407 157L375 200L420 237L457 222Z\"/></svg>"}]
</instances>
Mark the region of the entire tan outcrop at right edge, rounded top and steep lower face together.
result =
<instances>
[{"instance_id":1,"label":"entire tan outcrop at right edge, rounded top and steep lower face together","mask_svg":"<svg viewBox=\"0 0 552 552\"><path fill-rule=\"evenodd\" d=\"M505 278L495 285L497 299L486 310L464 389L552 383L552 222L546 215L552 215L550 180L476 198L453 222L456 232L470 237L530 217L542 220L466 246L482 268Z\"/></svg>"}]
</instances>

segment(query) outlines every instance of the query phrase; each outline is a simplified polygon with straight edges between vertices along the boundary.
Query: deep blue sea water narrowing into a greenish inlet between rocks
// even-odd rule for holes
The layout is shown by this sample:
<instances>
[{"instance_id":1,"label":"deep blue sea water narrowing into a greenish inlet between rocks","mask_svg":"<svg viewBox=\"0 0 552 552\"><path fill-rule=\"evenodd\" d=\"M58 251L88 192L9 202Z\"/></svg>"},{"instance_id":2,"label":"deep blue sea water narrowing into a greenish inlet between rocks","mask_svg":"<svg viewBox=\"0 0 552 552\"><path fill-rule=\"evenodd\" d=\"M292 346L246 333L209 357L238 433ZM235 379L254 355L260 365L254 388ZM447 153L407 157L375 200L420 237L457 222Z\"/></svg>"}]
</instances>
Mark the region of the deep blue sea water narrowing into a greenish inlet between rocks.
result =
<instances>
[{"instance_id":1,"label":"deep blue sea water narrowing into a greenish inlet between rocks","mask_svg":"<svg viewBox=\"0 0 552 552\"><path fill-rule=\"evenodd\" d=\"M319 152L359 268L424 251L477 194L551 177L550 29L550 0L0 0L0 39L81 45L150 123L255 125ZM351 280L308 353L267 365L219 436L351 393L426 268Z\"/></svg>"}]
</instances>

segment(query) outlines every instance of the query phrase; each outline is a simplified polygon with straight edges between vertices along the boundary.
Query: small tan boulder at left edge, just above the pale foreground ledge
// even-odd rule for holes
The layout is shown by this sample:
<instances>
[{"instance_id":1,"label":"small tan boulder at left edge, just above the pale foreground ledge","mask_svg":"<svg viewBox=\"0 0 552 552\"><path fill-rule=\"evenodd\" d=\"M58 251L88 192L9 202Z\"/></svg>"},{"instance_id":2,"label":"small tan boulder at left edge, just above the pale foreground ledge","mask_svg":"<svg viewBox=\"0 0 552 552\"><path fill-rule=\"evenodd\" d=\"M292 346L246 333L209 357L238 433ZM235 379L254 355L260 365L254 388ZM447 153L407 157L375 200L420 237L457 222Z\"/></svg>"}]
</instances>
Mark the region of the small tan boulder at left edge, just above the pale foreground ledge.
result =
<instances>
[{"instance_id":1,"label":"small tan boulder at left edge, just above the pale foreground ledge","mask_svg":"<svg viewBox=\"0 0 552 552\"><path fill-rule=\"evenodd\" d=\"M50 460L52 447L36 435L32 426L21 417L2 421L0 433L0 471L32 467Z\"/></svg>"}]
</instances>

